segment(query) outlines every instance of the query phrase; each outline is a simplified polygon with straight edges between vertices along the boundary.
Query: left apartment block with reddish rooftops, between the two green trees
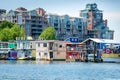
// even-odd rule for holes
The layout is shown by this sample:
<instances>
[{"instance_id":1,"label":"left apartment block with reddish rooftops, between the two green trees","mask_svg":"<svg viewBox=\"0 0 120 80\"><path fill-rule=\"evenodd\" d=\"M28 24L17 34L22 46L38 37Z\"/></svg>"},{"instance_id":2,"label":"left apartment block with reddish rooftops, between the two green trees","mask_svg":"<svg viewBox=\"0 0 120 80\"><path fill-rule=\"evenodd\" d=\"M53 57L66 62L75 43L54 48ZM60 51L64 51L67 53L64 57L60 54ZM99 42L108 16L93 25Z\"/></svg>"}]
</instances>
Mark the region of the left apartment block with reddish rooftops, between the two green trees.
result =
<instances>
[{"instance_id":1,"label":"left apartment block with reddish rooftops, between the two green trees","mask_svg":"<svg viewBox=\"0 0 120 80\"><path fill-rule=\"evenodd\" d=\"M27 10L19 7L16 10L10 10L6 19L10 22L20 24L27 36L38 38L40 33L46 28L45 11L42 8Z\"/></svg>"}]
</instances>

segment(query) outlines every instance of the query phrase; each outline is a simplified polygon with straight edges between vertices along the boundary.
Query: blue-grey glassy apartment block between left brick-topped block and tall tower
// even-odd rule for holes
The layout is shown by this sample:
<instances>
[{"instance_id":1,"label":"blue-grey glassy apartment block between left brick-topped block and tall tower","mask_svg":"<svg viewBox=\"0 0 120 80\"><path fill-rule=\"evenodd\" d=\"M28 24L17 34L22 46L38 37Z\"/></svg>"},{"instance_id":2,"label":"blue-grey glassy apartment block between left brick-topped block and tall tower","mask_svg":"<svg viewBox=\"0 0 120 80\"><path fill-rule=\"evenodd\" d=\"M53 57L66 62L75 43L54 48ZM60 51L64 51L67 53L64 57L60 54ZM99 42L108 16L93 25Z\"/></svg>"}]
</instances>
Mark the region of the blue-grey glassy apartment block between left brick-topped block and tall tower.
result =
<instances>
[{"instance_id":1,"label":"blue-grey glassy apartment block between left brick-topped block and tall tower","mask_svg":"<svg viewBox=\"0 0 120 80\"><path fill-rule=\"evenodd\" d=\"M47 21L49 26L55 28L57 39L65 40L70 37L79 37L82 41L85 30L82 18L48 14Z\"/></svg>"}]
</instances>

